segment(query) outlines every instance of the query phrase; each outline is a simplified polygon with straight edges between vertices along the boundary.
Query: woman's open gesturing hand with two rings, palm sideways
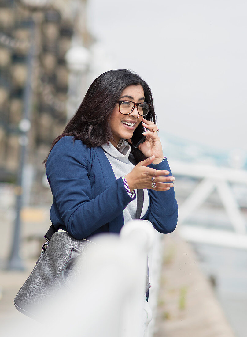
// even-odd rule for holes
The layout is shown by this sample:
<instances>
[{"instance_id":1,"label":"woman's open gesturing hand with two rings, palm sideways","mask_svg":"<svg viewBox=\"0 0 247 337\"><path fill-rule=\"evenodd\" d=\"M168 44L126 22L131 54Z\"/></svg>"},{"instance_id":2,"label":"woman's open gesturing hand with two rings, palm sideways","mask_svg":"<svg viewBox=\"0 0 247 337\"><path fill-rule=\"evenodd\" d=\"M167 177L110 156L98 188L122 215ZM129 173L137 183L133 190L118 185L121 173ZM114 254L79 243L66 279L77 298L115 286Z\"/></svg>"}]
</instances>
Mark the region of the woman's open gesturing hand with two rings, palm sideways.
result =
<instances>
[{"instance_id":1,"label":"woman's open gesturing hand with two rings, palm sideways","mask_svg":"<svg viewBox=\"0 0 247 337\"><path fill-rule=\"evenodd\" d=\"M133 170L126 174L125 179L129 185L130 192L134 189L149 188L156 191L167 191L170 187L173 187L172 181L174 177L164 177L170 172L166 170L155 170L155 168L147 167L155 160L155 156L140 161ZM155 177L152 180L152 177ZM155 183L156 187L152 187L152 183Z\"/></svg>"}]
</instances>

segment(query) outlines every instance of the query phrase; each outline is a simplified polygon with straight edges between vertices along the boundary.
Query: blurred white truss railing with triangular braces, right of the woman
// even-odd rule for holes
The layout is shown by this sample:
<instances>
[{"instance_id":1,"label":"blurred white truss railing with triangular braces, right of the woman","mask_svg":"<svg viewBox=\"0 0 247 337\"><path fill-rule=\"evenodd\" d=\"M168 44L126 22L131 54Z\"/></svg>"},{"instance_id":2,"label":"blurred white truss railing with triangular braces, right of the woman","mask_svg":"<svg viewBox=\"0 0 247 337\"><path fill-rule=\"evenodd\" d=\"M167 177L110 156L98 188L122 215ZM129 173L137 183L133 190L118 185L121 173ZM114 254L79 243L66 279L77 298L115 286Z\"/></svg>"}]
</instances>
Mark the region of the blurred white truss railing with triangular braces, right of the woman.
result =
<instances>
[{"instance_id":1,"label":"blurred white truss railing with triangular braces, right of the woman","mask_svg":"<svg viewBox=\"0 0 247 337\"><path fill-rule=\"evenodd\" d=\"M189 241L247 249L247 221L233 193L231 183L247 185L247 171L201 163L171 161L174 176L201 179L179 206L179 232ZM188 223L190 215L216 190L232 224L232 231L200 228ZM181 225L181 226L180 226Z\"/></svg>"}]
</instances>

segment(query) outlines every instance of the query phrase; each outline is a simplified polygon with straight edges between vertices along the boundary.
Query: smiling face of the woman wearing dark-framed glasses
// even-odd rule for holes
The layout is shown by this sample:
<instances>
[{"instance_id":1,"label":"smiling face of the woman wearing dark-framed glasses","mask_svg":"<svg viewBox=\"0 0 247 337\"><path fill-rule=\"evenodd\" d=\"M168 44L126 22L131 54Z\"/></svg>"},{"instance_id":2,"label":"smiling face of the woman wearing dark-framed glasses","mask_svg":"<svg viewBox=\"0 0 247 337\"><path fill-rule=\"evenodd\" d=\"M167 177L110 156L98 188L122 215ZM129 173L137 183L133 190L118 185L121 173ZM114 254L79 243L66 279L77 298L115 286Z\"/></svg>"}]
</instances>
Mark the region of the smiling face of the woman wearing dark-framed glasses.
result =
<instances>
[{"instance_id":1,"label":"smiling face of the woman wearing dark-framed glasses","mask_svg":"<svg viewBox=\"0 0 247 337\"><path fill-rule=\"evenodd\" d=\"M144 99L143 88L140 84L126 87L119 97L120 101L126 100L135 103L142 103L144 102ZM142 116L138 115L136 106L129 115L122 115L119 112L119 104L117 103L110 118L110 126L113 134L113 139L110 140L110 142L117 147L120 138L130 139L133 135L133 131L141 121ZM127 122L134 123L134 125L127 125Z\"/></svg>"}]
</instances>

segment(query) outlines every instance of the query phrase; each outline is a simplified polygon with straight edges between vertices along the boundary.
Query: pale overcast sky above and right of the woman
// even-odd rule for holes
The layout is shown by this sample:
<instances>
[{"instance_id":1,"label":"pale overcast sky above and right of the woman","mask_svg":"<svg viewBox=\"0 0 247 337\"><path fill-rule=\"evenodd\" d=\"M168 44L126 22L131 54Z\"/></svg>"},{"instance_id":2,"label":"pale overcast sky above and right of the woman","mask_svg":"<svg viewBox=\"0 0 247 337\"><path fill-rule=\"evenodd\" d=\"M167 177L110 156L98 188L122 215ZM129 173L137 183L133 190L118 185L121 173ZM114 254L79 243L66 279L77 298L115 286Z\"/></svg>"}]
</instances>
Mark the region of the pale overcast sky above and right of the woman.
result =
<instances>
[{"instance_id":1,"label":"pale overcast sky above and right of the woman","mask_svg":"<svg viewBox=\"0 0 247 337\"><path fill-rule=\"evenodd\" d=\"M88 0L88 14L103 71L150 85L160 130L247 150L247 1Z\"/></svg>"}]
</instances>

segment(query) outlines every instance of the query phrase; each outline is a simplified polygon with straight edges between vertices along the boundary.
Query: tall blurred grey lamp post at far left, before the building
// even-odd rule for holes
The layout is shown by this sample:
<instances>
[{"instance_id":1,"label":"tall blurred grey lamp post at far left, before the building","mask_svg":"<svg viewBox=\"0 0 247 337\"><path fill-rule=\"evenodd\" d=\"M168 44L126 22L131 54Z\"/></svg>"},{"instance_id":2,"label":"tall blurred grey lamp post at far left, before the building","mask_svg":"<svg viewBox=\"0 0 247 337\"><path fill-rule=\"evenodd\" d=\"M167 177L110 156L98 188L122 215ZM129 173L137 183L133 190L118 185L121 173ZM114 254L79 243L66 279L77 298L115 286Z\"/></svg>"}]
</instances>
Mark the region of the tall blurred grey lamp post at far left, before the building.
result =
<instances>
[{"instance_id":1,"label":"tall blurred grey lamp post at far left, before the building","mask_svg":"<svg viewBox=\"0 0 247 337\"><path fill-rule=\"evenodd\" d=\"M16 0L20 5L28 8L30 11L40 11L47 8L52 0ZM19 144L21 147L20 151L20 161L17 175L17 185L15 187L15 209L16 217L14 222L14 232L12 239L12 246L10 250L10 255L6 264L6 269L9 270L23 270L24 264L23 260L19 255L20 250L20 232L21 232L21 219L20 214L23 206L23 190L24 190L24 168L27 157L27 146L28 146L28 132L31 128L31 111L32 111L32 73L33 64L35 56L35 22L30 21L30 48L27 55L27 81L24 89L24 111L23 118L19 123Z\"/></svg>"}]
</instances>

